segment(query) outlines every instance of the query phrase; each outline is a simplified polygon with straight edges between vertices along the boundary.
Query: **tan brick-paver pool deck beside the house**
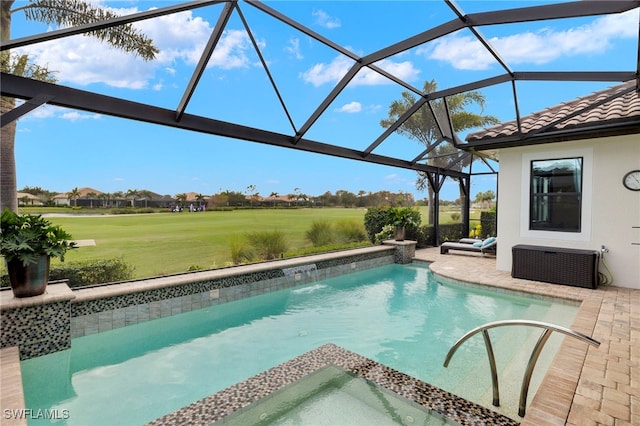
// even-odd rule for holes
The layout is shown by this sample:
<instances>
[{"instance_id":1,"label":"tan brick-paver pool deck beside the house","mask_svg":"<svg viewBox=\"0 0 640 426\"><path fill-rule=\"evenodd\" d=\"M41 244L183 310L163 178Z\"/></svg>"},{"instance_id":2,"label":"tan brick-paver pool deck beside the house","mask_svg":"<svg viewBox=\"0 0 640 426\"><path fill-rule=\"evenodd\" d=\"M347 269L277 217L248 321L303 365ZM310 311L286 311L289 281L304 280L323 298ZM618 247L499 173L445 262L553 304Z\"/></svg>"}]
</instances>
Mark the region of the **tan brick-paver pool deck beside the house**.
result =
<instances>
[{"instance_id":1,"label":"tan brick-paver pool deck beside the house","mask_svg":"<svg viewBox=\"0 0 640 426\"><path fill-rule=\"evenodd\" d=\"M522 425L640 425L640 290L596 290L512 278L495 257L416 251L434 273L458 281L518 292L581 300L573 328L598 348L565 338Z\"/></svg>"}]
</instances>

